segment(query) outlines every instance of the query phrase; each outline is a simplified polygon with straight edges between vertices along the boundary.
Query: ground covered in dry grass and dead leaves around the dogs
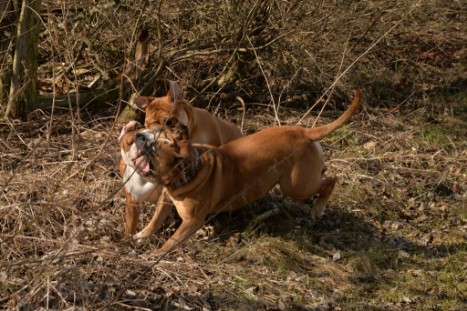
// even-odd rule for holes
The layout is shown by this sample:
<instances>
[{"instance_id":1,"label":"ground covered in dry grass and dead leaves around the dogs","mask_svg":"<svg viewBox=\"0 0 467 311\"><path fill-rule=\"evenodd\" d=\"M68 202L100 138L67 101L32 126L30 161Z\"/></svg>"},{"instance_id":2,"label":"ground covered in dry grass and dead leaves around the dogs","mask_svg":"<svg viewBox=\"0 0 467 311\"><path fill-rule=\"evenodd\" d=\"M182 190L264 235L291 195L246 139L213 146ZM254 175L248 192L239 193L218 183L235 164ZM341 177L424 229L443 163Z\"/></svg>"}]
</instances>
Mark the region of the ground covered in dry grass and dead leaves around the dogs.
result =
<instances>
[{"instance_id":1,"label":"ground covered in dry grass and dead leaves around the dogs","mask_svg":"<svg viewBox=\"0 0 467 311\"><path fill-rule=\"evenodd\" d=\"M424 98L392 110L364 103L322 141L339 182L321 219L271 194L213 218L160 261L153 251L180 221L174 213L142 244L124 235L112 112L2 123L0 308L465 310L467 97ZM241 123L241 112L219 112ZM251 105L244 132L273 116Z\"/></svg>"}]
</instances>

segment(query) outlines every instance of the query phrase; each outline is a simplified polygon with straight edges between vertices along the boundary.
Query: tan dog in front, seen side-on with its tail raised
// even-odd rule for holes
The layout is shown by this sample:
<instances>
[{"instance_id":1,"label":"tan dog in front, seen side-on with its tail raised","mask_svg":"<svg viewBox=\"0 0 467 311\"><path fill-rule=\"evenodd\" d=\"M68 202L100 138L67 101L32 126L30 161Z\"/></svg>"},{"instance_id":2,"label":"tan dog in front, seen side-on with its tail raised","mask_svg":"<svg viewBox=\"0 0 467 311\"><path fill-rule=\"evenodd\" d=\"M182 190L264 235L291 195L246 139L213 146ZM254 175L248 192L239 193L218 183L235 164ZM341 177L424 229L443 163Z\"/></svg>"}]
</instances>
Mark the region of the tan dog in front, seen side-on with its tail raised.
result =
<instances>
[{"instance_id":1,"label":"tan dog in front, seen side-on with its tail raised","mask_svg":"<svg viewBox=\"0 0 467 311\"><path fill-rule=\"evenodd\" d=\"M360 106L357 94L336 121L307 129L273 127L210 147L174 138L170 132L141 131L126 157L146 177L165 187L182 224L157 250L164 253L201 228L208 214L236 210L279 184L284 195L309 202L318 199L312 216L320 217L336 183L323 178L324 157L319 140L341 127ZM133 136L135 132L125 133ZM167 217L170 207L158 206L151 222L134 238L149 236Z\"/></svg>"}]
</instances>

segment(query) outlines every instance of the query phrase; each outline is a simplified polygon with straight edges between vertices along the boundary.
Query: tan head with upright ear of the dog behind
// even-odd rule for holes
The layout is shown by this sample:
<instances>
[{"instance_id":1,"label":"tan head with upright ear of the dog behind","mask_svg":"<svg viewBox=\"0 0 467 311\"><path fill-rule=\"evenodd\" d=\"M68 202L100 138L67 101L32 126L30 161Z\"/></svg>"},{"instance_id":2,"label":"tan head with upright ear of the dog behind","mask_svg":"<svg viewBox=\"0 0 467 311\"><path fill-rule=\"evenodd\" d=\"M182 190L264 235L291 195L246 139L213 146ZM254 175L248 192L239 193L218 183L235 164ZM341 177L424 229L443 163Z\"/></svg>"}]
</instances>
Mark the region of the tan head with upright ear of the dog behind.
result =
<instances>
[{"instance_id":1,"label":"tan head with upright ear of the dog behind","mask_svg":"<svg viewBox=\"0 0 467 311\"><path fill-rule=\"evenodd\" d=\"M169 81L169 91L166 96L140 96L135 104L146 112L144 125L148 129L160 126L189 127L193 111L191 104L183 98L182 90L177 82Z\"/></svg>"}]
</instances>

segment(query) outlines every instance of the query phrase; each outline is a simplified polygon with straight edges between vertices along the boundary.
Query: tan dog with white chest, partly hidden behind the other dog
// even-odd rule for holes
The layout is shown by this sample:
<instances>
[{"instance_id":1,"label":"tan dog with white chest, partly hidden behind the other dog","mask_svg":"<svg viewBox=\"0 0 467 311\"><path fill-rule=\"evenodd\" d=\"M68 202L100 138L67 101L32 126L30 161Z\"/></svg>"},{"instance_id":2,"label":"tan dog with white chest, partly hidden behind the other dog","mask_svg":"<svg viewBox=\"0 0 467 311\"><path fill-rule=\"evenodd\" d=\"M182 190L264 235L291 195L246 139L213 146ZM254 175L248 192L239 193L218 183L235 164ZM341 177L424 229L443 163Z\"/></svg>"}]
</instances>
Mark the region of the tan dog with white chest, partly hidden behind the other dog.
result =
<instances>
[{"instance_id":1,"label":"tan dog with white chest, partly hidden behind the other dog","mask_svg":"<svg viewBox=\"0 0 467 311\"><path fill-rule=\"evenodd\" d=\"M214 146L220 146L242 136L240 130L232 123L220 120L204 109L193 107L183 98L182 91L176 82L169 81L169 86L166 96L141 96L136 99L136 105L146 111L146 128L152 129L163 125L169 128L186 127L192 142ZM135 128L138 128L138 125L133 123L130 128L122 130L122 133ZM129 148L131 144L128 145L128 142L121 138L122 150ZM145 179L135 173L134 169L128 167L127 164L125 158L122 157L119 171L125 182L125 232L135 234L141 203L157 202L161 196L162 187L153 180Z\"/></svg>"}]
</instances>

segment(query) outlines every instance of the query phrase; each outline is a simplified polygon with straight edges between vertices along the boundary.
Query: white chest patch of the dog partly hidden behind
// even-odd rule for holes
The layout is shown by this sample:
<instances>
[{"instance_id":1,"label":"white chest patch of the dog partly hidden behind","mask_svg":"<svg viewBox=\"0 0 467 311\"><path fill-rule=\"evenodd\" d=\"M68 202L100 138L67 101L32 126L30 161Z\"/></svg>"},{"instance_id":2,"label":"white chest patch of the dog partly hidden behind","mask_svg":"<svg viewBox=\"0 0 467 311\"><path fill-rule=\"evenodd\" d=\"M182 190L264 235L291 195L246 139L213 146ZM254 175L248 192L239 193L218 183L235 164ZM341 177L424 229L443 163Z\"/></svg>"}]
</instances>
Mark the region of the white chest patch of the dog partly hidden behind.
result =
<instances>
[{"instance_id":1,"label":"white chest patch of the dog partly hidden behind","mask_svg":"<svg viewBox=\"0 0 467 311\"><path fill-rule=\"evenodd\" d=\"M138 202L153 201L151 200L151 196L156 193L156 188L159 187L155 182L147 181L141 177L129 165L127 165L123 174L123 182L125 183L126 190Z\"/></svg>"}]
</instances>

